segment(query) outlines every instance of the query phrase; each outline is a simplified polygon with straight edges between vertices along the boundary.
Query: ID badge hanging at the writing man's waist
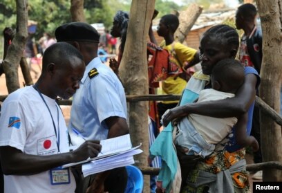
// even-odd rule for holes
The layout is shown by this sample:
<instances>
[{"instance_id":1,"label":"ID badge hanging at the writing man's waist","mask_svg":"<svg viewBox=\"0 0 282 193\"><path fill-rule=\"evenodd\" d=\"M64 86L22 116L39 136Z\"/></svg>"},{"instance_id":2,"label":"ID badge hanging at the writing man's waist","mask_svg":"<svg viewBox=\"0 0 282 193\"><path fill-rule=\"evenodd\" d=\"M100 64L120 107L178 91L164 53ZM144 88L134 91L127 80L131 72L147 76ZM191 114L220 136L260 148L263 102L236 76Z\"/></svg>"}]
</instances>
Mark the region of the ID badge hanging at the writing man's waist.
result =
<instances>
[{"instance_id":1,"label":"ID badge hanging at the writing man's waist","mask_svg":"<svg viewBox=\"0 0 282 193\"><path fill-rule=\"evenodd\" d=\"M50 183L51 185L69 184L71 183L70 169L55 167L50 169Z\"/></svg>"}]
</instances>

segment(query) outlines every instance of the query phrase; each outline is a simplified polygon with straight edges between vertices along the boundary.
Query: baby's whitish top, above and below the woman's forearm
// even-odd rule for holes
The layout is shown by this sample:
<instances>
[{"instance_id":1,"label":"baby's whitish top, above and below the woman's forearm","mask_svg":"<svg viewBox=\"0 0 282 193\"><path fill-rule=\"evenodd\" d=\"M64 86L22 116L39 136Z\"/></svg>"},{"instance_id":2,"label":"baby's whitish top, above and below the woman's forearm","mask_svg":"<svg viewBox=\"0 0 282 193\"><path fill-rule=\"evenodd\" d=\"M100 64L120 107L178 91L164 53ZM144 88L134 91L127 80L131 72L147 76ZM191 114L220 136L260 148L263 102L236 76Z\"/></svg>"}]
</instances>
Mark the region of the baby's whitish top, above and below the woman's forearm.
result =
<instances>
[{"instance_id":1,"label":"baby's whitish top, above and below the woman's forearm","mask_svg":"<svg viewBox=\"0 0 282 193\"><path fill-rule=\"evenodd\" d=\"M198 102L222 100L232 98L234 94L216 91L214 89L205 89L200 91ZM189 121L195 129L205 138L207 143L218 144L230 133L232 127L236 124L237 118L213 118L190 114ZM183 129L184 130L184 129Z\"/></svg>"}]
</instances>

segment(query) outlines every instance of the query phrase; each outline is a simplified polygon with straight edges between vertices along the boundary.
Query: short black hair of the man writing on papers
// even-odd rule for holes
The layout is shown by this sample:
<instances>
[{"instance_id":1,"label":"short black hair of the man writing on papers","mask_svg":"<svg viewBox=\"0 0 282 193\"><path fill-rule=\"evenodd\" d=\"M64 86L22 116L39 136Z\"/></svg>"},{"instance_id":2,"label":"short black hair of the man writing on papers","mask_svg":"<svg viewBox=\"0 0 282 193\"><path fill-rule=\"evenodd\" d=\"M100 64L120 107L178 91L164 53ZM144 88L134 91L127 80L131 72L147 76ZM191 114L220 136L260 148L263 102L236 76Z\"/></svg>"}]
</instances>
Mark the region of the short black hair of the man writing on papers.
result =
<instances>
[{"instance_id":1,"label":"short black hair of the man writing on papers","mask_svg":"<svg viewBox=\"0 0 282 193\"><path fill-rule=\"evenodd\" d=\"M77 48L75 48L71 44L68 44L66 42L57 42L52 46L49 46L45 50L43 55L42 73L46 71L48 64L55 63L56 65L64 65L64 59L71 61L73 57L78 57L83 61L82 54L79 53L79 50L77 50Z\"/></svg>"}]
</instances>

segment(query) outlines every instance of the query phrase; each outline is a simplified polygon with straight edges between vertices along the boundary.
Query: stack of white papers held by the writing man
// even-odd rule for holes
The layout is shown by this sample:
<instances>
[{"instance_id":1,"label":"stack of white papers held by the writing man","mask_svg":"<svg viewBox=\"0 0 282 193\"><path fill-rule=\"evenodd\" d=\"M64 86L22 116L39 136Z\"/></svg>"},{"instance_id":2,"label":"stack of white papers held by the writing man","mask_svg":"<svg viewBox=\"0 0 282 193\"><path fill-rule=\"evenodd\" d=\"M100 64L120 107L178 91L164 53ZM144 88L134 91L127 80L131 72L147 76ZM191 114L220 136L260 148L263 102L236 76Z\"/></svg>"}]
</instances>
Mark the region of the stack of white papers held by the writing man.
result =
<instances>
[{"instance_id":1,"label":"stack of white papers held by the writing man","mask_svg":"<svg viewBox=\"0 0 282 193\"><path fill-rule=\"evenodd\" d=\"M137 147L132 147L129 134L117 138L101 140L102 150L95 158L88 158L77 163L69 163L63 167L82 164L84 177L90 174L104 172L117 167L124 167L134 163L133 155L141 154L143 151Z\"/></svg>"}]
</instances>

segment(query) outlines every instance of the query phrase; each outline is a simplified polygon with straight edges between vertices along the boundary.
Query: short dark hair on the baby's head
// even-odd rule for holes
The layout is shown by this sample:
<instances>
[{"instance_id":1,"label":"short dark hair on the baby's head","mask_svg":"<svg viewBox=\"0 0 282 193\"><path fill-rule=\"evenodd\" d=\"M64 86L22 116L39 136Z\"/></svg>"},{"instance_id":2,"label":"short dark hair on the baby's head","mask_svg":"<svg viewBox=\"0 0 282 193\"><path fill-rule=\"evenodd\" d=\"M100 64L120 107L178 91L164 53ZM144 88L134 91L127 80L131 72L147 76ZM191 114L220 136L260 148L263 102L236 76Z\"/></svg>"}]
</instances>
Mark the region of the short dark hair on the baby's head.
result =
<instances>
[{"instance_id":1,"label":"short dark hair on the baby's head","mask_svg":"<svg viewBox=\"0 0 282 193\"><path fill-rule=\"evenodd\" d=\"M244 82L244 67L236 59L222 59L212 68L212 77L219 83L225 82L230 90L236 91Z\"/></svg>"}]
</instances>

